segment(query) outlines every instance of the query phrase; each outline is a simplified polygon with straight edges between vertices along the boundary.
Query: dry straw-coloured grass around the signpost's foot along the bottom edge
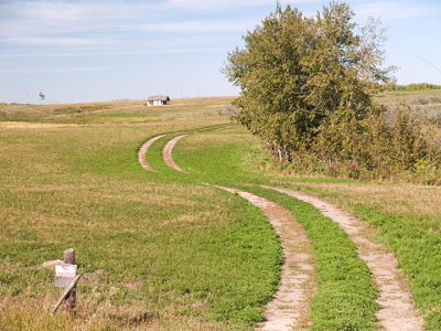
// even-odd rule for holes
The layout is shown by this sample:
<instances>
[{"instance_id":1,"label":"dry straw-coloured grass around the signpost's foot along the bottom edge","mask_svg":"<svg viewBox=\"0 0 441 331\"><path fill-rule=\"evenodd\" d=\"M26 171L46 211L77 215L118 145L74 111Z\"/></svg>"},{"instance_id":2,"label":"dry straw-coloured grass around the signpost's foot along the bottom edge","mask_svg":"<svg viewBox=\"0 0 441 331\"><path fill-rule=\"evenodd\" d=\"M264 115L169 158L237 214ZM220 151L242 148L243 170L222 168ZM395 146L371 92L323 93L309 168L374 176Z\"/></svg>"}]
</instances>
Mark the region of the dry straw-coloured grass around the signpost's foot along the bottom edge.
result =
<instances>
[{"instance_id":1,"label":"dry straw-coloured grass around the signpost's foot along the bottom edge","mask_svg":"<svg viewBox=\"0 0 441 331\"><path fill-rule=\"evenodd\" d=\"M115 291L115 288L111 288ZM116 292L115 292L116 293ZM226 324L202 321L197 317L180 313L180 305L158 310L153 313L143 308L143 302L130 306L115 306L109 300L100 301L100 289L96 287L90 296L78 300L77 314L72 317L62 310L51 313L57 296L54 293L39 298L3 296L0 300L0 327L11 331L22 330L225 330ZM197 308L194 308L197 310Z\"/></svg>"}]
</instances>

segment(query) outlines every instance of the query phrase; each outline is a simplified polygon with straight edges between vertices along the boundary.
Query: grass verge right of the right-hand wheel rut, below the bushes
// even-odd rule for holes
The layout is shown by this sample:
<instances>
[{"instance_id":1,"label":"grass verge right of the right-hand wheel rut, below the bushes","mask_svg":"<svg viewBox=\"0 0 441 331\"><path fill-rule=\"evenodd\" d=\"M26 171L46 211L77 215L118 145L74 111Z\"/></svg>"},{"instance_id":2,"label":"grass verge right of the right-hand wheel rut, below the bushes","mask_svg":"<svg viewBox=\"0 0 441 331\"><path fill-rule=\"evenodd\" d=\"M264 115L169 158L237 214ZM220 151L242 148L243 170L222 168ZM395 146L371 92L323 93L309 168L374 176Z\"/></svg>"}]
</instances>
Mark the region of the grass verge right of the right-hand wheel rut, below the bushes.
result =
<instances>
[{"instance_id":1,"label":"grass verge right of the right-hand wheel rut, below the bushes","mask_svg":"<svg viewBox=\"0 0 441 331\"><path fill-rule=\"evenodd\" d=\"M284 185L333 201L373 226L373 239L388 246L406 274L424 328L441 329L440 188L355 182L326 188L297 181ZM364 196L355 199L358 188Z\"/></svg>"}]
</instances>

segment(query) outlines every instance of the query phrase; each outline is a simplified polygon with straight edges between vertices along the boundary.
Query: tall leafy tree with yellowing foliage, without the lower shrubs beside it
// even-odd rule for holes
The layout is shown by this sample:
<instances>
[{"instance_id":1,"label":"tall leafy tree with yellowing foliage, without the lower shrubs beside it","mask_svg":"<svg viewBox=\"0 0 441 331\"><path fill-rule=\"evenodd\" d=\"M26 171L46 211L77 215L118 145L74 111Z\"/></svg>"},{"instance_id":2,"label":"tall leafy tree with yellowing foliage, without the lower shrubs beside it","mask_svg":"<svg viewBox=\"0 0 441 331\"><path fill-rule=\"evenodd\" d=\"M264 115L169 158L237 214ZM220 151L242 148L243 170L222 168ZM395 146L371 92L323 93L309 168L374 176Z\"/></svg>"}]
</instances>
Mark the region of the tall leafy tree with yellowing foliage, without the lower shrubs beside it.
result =
<instances>
[{"instance_id":1,"label":"tall leafy tree with yellowing foliage, without the lower shrubs beside it","mask_svg":"<svg viewBox=\"0 0 441 331\"><path fill-rule=\"evenodd\" d=\"M383 33L353 22L346 3L331 2L309 18L280 4L228 55L225 75L241 88L236 120L262 138L273 156L291 161L308 150L324 121L363 119L389 81L381 68Z\"/></svg>"}]
</instances>

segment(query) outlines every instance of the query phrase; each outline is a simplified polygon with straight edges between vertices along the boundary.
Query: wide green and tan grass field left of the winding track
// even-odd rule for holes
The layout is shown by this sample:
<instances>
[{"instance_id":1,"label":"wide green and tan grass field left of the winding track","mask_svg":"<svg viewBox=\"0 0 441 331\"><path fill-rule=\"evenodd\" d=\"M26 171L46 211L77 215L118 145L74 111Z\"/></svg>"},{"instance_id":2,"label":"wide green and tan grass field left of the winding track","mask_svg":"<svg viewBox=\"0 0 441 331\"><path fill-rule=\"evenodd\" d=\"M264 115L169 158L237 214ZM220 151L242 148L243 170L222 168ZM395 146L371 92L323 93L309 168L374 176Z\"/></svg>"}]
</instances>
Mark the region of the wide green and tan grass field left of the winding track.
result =
<instances>
[{"instance_id":1,"label":"wide green and tan grass field left of the winding track","mask_svg":"<svg viewBox=\"0 0 441 331\"><path fill-rule=\"evenodd\" d=\"M80 274L105 269L78 286L82 328L248 330L260 321L281 264L268 221L237 196L136 160L148 137L225 124L196 116L0 129L0 329L66 328L46 316L60 291L41 264L69 247Z\"/></svg>"}]
</instances>

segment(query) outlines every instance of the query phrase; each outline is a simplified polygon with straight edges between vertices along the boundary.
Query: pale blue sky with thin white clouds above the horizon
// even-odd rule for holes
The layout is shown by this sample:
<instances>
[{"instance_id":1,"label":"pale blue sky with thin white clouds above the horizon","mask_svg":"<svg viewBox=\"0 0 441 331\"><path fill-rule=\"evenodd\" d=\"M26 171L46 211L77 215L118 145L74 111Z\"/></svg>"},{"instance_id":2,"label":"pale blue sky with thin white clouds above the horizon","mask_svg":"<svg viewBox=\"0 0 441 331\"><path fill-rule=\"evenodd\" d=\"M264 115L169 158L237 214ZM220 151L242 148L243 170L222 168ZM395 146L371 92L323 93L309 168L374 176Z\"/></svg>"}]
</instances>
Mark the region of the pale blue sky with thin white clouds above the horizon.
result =
<instances>
[{"instance_id":1,"label":"pale blue sky with thin white clouds above the horizon","mask_svg":"<svg viewBox=\"0 0 441 331\"><path fill-rule=\"evenodd\" d=\"M313 15L329 1L289 3ZM346 1L387 28L398 84L441 84L441 1ZM276 0L0 0L0 102L238 95L220 73ZM40 92L45 96L42 102Z\"/></svg>"}]
</instances>

